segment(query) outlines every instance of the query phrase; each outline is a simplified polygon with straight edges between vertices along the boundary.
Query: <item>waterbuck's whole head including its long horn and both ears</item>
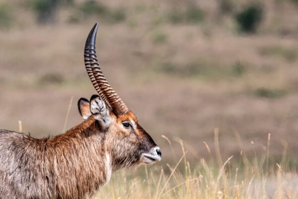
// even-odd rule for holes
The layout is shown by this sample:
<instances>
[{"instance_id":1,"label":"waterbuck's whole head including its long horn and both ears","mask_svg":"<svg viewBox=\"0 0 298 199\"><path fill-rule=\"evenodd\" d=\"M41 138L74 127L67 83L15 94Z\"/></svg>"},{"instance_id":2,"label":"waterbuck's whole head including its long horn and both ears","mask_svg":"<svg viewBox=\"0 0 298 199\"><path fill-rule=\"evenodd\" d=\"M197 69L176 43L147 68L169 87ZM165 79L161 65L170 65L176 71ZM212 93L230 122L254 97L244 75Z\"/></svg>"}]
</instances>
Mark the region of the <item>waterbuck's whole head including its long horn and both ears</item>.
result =
<instances>
[{"instance_id":1,"label":"waterbuck's whole head including its long horn and both ears","mask_svg":"<svg viewBox=\"0 0 298 199\"><path fill-rule=\"evenodd\" d=\"M78 109L84 119L93 118L104 133L104 151L112 170L161 160L161 151L150 135L138 123L135 114L115 93L104 77L96 58L95 38L98 23L91 29L84 49L88 76L98 95L90 101L78 100Z\"/></svg>"}]
</instances>

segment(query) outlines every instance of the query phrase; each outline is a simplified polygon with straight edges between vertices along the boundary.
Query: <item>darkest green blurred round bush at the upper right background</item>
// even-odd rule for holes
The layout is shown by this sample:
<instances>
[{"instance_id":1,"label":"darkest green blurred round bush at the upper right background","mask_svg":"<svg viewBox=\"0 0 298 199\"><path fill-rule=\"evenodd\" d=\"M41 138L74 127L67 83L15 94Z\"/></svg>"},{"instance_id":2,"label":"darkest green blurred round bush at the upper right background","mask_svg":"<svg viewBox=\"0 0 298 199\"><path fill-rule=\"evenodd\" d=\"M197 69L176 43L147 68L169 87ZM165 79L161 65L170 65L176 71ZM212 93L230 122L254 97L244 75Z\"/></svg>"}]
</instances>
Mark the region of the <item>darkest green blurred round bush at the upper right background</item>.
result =
<instances>
[{"instance_id":1,"label":"darkest green blurred round bush at the upper right background","mask_svg":"<svg viewBox=\"0 0 298 199\"><path fill-rule=\"evenodd\" d=\"M235 16L236 22L243 32L255 32L258 24L262 20L263 8L259 4L246 6Z\"/></svg>"}]
</instances>

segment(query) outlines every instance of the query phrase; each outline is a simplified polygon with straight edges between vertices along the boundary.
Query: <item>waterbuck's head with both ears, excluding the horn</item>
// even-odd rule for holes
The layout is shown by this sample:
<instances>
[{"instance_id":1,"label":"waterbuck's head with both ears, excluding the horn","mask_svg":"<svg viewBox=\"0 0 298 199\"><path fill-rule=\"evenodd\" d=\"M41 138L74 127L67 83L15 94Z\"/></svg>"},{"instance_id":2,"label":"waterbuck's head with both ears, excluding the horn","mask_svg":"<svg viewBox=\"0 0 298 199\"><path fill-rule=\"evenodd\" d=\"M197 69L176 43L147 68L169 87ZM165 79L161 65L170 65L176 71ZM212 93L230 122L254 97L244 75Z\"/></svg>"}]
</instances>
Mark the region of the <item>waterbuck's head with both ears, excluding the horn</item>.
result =
<instances>
[{"instance_id":1,"label":"waterbuck's head with both ears, excluding the horn","mask_svg":"<svg viewBox=\"0 0 298 199\"><path fill-rule=\"evenodd\" d=\"M151 164L161 160L159 147L142 126L139 125L132 111L116 115L109 111L105 103L99 98L92 98L90 100L89 112L85 111L85 114L82 108L88 110L86 108L88 107L88 104L86 104L87 100L79 100L79 112L83 117L84 115L92 115L102 126L105 126L106 150L111 155L112 165L116 170L138 164ZM104 107L96 107L100 105ZM105 111L102 111L103 109ZM100 113L99 110L103 113ZM104 113L105 115L103 115Z\"/></svg>"}]
</instances>

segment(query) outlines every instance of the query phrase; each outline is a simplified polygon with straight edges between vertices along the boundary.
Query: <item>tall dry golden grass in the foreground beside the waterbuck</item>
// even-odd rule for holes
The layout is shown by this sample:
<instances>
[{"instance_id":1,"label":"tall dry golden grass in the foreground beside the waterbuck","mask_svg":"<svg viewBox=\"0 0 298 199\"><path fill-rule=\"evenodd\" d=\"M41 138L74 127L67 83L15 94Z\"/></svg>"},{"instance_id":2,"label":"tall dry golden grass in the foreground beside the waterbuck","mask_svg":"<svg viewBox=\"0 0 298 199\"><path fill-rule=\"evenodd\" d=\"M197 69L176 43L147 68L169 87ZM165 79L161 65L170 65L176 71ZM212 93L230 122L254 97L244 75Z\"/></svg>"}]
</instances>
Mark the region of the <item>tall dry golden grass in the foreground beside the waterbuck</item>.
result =
<instances>
[{"instance_id":1,"label":"tall dry golden grass in the foreground beside the waterbuck","mask_svg":"<svg viewBox=\"0 0 298 199\"><path fill-rule=\"evenodd\" d=\"M190 167L186 159L187 151L184 151L182 140L180 144L183 155L175 165L141 166L129 171L116 172L111 181L101 188L93 199L296 199L298 197L298 176L286 161L286 148L281 160L268 165L270 134L267 157L256 155L248 160L241 152L238 160L231 156L223 162L216 129L215 150L219 153L218 164L215 164L211 157L209 164L205 159L200 159L193 167ZM206 147L210 151L207 143ZM180 165L182 167L179 167Z\"/></svg>"}]
</instances>

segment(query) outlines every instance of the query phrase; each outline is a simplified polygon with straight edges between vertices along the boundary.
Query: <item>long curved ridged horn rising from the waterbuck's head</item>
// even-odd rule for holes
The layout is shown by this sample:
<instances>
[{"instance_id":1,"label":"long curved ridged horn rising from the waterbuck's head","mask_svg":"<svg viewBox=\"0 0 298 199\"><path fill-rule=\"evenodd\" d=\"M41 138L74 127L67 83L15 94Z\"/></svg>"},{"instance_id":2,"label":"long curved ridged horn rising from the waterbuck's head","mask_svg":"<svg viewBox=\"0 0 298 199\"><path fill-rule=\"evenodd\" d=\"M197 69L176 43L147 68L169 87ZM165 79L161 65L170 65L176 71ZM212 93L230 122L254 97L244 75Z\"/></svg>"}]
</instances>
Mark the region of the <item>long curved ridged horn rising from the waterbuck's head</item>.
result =
<instances>
[{"instance_id":1,"label":"long curved ridged horn rising from the waterbuck's head","mask_svg":"<svg viewBox=\"0 0 298 199\"><path fill-rule=\"evenodd\" d=\"M85 67L95 90L102 100L104 100L108 105L111 105L117 115L122 115L128 112L128 108L109 85L97 63L95 52L97 28L98 23L92 27L86 39L84 50Z\"/></svg>"}]
</instances>

